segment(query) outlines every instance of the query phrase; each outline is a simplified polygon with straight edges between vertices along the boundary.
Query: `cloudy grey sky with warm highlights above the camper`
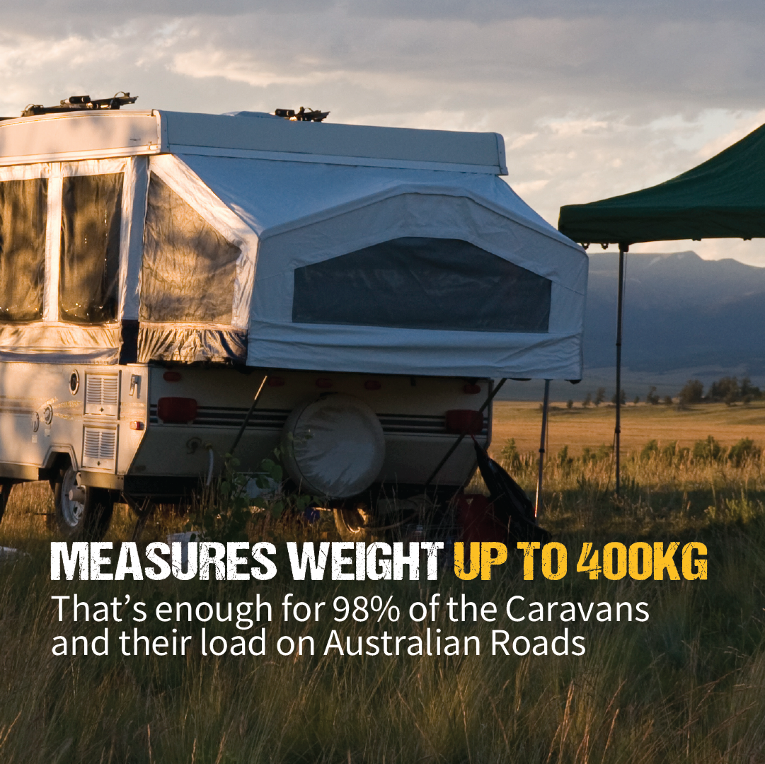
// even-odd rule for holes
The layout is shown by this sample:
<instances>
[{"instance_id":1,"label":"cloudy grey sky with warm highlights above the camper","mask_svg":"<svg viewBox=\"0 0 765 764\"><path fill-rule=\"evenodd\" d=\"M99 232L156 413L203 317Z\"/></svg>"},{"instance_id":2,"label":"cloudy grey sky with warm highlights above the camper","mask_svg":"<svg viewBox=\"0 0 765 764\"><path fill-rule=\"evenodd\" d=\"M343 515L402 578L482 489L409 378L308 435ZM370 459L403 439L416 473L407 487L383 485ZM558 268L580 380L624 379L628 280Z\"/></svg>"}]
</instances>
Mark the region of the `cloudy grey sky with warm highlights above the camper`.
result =
<instances>
[{"instance_id":1,"label":"cloudy grey sky with warm highlights above the camper","mask_svg":"<svg viewBox=\"0 0 765 764\"><path fill-rule=\"evenodd\" d=\"M299 106L505 136L562 204L658 183L765 122L763 0L0 0L0 115L78 93L145 109ZM672 242L765 266L765 242Z\"/></svg>"}]
</instances>

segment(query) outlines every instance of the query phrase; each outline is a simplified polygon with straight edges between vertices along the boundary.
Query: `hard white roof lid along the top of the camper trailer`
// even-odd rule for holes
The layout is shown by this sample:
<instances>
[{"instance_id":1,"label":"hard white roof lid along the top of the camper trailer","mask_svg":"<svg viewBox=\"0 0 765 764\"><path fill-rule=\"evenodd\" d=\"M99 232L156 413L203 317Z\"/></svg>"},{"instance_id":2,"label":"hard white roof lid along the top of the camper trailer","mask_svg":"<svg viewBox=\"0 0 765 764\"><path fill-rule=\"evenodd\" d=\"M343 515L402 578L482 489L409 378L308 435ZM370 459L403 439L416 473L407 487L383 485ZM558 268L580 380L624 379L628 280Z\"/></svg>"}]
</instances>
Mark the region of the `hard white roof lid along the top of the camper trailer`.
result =
<instances>
[{"instance_id":1,"label":"hard white roof lid along the top of the camper trailer","mask_svg":"<svg viewBox=\"0 0 765 764\"><path fill-rule=\"evenodd\" d=\"M258 112L104 110L0 122L0 164L148 154L507 174L504 141L493 132L291 122Z\"/></svg>"}]
</instances>

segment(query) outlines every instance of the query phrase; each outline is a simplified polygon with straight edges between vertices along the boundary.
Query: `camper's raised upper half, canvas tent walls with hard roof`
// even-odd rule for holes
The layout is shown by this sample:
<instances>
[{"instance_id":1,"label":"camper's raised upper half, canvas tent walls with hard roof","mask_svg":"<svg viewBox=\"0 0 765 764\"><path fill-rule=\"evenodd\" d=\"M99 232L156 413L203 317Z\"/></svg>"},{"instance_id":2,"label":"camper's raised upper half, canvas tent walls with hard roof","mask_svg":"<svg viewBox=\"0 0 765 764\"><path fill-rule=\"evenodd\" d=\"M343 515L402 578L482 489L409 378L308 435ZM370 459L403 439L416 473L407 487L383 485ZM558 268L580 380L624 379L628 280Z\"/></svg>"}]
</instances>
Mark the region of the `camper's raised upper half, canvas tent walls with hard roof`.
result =
<instances>
[{"instance_id":1,"label":"camper's raised upper half, canvas tent walls with hard roof","mask_svg":"<svg viewBox=\"0 0 765 764\"><path fill-rule=\"evenodd\" d=\"M5 120L0 358L578 379L587 257L500 174L496 133Z\"/></svg>"}]
</instances>

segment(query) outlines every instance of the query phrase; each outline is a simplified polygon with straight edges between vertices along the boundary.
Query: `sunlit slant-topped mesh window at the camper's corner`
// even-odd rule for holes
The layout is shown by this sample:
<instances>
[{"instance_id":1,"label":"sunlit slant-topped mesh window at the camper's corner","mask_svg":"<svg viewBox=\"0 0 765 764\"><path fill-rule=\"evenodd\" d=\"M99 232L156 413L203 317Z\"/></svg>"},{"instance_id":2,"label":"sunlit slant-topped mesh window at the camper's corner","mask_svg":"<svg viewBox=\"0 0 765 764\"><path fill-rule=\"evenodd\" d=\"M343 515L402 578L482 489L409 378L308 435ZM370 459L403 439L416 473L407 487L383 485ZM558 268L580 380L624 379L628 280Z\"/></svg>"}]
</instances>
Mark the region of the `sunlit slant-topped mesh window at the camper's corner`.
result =
<instances>
[{"instance_id":1,"label":"sunlit slant-topped mesh window at the camper's corner","mask_svg":"<svg viewBox=\"0 0 765 764\"><path fill-rule=\"evenodd\" d=\"M152 175L144 227L142 320L230 324L240 253Z\"/></svg>"}]
</instances>

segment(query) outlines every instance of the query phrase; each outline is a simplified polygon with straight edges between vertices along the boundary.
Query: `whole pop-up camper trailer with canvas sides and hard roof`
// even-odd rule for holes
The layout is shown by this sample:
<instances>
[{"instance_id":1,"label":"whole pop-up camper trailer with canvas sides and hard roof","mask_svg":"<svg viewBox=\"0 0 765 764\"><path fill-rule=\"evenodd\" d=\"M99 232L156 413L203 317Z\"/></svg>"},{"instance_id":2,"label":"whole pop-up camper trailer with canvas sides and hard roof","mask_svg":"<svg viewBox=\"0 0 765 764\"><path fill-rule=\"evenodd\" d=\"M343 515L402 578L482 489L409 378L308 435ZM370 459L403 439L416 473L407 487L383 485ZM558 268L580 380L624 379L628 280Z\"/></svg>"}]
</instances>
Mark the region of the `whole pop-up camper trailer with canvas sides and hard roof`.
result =
<instances>
[{"instance_id":1,"label":"whole pop-up camper trailer with canvas sides and hard roof","mask_svg":"<svg viewBox=\"0 0 765 764\"><path fill-rule=\"evenodd\" d=\"M238 437L327 506L413 496L455 433L489 444L493 379L581 377L586 255L500 135L30 113L0 121L0 480L50 480L70 538ZM432 484L474 468L468 438Z\"/></svg>"}]
</instances>

